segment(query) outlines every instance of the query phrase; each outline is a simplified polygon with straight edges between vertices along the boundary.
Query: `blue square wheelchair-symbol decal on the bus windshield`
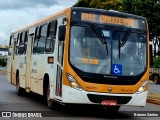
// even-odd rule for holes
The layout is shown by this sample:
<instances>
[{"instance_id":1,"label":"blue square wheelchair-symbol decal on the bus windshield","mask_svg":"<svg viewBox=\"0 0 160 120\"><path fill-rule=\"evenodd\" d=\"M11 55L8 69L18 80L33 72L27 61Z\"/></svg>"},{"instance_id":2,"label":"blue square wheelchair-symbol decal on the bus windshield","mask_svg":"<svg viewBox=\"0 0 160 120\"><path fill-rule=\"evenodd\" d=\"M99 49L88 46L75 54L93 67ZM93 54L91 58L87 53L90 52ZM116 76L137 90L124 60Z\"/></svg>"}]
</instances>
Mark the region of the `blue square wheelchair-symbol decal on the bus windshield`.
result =
<instances>
[{"instance_id":1,"label":"blue square wheelchair-symbol decal on the bus windshield","mask_svg":"<svg viewBox=\"0 0 160 120\"><path fill-rule=\"evenodd\" d=\"M112 75L122 75L121 64L112 64Z\"/></svg>"}]
</instances>

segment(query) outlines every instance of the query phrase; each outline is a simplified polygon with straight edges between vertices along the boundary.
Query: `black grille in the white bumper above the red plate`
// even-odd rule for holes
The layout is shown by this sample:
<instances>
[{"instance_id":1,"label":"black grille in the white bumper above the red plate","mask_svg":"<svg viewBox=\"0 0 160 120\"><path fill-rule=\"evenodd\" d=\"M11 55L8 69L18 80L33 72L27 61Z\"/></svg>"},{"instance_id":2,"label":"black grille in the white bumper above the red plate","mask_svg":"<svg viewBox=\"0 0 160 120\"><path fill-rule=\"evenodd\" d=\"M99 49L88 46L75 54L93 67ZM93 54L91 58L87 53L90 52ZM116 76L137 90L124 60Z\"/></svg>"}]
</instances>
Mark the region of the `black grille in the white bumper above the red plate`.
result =
<instances>
[{"instance_id":1,"label":"black grille in the white bumper above the red plate","mask_svg":"<svg viewBox=\"0 0 160 120\"><path fill-rule=\"evenodd\" d=\"M109 96L109 95L94 95L87 94L89 100L93 103L102 103L103 100L115 100L117 104L127 104L132 97L130 96Z\"/></svg>"}]
</instances>

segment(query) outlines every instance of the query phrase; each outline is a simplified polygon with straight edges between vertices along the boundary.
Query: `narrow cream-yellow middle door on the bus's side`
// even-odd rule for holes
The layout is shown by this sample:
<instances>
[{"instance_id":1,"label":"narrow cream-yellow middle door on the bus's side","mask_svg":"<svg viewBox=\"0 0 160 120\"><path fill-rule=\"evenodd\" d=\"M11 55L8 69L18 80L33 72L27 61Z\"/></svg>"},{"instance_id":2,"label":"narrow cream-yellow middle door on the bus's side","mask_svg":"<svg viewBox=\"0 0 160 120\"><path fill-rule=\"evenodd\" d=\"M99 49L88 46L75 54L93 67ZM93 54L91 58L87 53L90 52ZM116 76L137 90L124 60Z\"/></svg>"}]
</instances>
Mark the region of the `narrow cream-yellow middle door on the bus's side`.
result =
<instances>
[{"instance_id":1,"label":"narrow cream-yellow middle door on the bus's side","mask_svg":"<svg viewBox=\"0 0 160 120\"><path fill-rule=\"evenodd\" d=\"M28 43L26 50L26 71L25 71L25 88L27 92L30 92L30 80L31 80L31 56L32 56L32 43L34 39L34 30L30 29L28 33Z\"/></svg>"}]
</instances>

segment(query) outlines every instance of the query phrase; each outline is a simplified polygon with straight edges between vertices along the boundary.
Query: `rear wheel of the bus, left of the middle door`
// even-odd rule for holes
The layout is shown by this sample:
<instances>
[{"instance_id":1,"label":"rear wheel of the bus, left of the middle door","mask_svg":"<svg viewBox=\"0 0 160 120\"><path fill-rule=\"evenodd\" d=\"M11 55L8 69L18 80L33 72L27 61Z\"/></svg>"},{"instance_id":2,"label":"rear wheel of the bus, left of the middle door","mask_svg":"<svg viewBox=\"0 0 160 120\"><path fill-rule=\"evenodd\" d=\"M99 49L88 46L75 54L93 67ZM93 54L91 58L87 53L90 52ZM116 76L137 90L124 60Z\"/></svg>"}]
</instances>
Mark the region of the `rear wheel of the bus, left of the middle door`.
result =
<instances>
[{"instance_id":1,"label":"rear wheel of the bus, left of the middle door","mask_svg":"<svg viewBox=\"0 0 160 120\"><path fill-rule=\"evenodd\" d=\"M18 96L23 96L25 94L24 89L20 87L19 75L16 76L16 93Z\"/></svg>"}]
</instances>

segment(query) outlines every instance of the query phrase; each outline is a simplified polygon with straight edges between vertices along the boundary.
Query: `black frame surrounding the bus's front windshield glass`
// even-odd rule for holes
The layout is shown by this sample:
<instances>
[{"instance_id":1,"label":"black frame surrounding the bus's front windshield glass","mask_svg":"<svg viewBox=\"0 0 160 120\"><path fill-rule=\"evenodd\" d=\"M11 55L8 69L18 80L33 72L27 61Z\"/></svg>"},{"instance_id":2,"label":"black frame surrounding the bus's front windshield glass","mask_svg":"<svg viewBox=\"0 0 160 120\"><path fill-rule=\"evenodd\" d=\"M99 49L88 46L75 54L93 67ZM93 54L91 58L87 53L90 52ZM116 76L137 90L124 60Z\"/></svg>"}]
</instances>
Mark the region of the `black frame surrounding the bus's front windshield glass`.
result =
<instances>
[{"instance_id":1,"label":"black frame surrounding the bus's front windshield glass","mask_svg":"<svg viewBox=\"0 0 160 120\"><path fill-rule=\"evenodd\" d=\"M104 25L102 24L94 24L96 27L98 28L101 28L101 29L105 29L104 28ZM87 23L82 23L82 22L72 22L71 23L71 27L72 26L81 26L81 27L90 27L90 25L88 25ZM115 25L105 25L105 27L107 27L109 30L116 30L116 31L120 31L120 32L127 32L128 28L127 27L122 27L122 26L115 26ZM147 31L146 30L137 30L137 29L131 29L130 33L140 33L140 34L145 34L147 36ZM71 33L70 33L70 37L71 37ZM127 41L126 41L127 42ZM68 58L69 59L69 64L71 65L71 67L76 71L77 74L79 74L81 77L87 77L87 76L99 76L99 78L102 78L102 79L108 79L111 77L111 79L121 79L125 77L125 81L128 79L130 79L130 77L132 77L132 80L135 82L135 81L138 81L142 75L146 72L147 70L147 65L148 65L148 49L147 49L147 46L148 46L148 42L147 42L147 38L146 38L146 68L144 70L144 72L136 75L136 76L117 76L117 75L109 75L109 74L96 74L96 73L87 73L87 72L84 72L84 71L81 71L79 70L78 68L76 68L75 66L73 66L70 62L70 57ZM111 52L112 53L112 52ZM69 41L69 56L70 56L70 41ZM112 58L111 58L112 59ZM112 61L112 60L111 60ZM112 63L111 63L112 64ZM114 76L114 77L113 77ZM85 77L83 79L85 79ZM87 77L88 78L88 77ZM87 80L86 78L86 80ZM91 77L93 78L93 77ZM87 80L88 81L88 80ZM124 81L124 80L123 80ZM92 82L92 81L91 81ZM93 81L94 82L94 81ZM98 80L95 80L95 82L99 83ZM102 82L102 81L101 81ZM109 82L109 81L108 81ZM113 82L113 81L112 81ZM102 82L104 83L104 81ZM115 84L119 84L119 82L115 83ZM128 84L132 84L131 81L130 83Z\"/></svg>"}]
</instances>

